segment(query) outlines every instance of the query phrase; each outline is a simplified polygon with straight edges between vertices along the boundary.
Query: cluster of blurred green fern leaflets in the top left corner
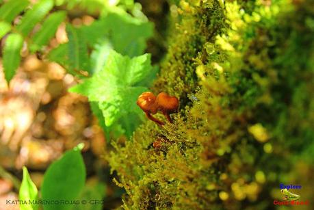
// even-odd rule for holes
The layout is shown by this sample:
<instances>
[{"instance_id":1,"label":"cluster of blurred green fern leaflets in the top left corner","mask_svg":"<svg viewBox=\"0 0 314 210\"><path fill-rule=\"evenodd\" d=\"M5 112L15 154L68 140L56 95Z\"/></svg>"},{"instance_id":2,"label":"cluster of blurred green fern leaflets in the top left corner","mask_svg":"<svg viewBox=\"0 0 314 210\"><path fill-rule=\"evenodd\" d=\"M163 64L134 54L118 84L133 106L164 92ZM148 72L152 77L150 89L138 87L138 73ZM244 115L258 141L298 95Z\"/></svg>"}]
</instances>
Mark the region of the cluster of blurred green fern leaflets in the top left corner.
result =
<instances>
[{"instance_id":1,"label":"cluster of blurred green fern leaflets in the top left corner","mask_svg":"<svg viewBox=\"0 0 314 210\"><path fill-rule=\"evenodd\" d=\"M21 18L21 21L14 23L12 21L27 6L29 1L8 1L0 8L0 38L8 34L3 47L3 68L5 79L10 82L21 62L21 49L23 43L27 42L27 46L32 52L42 49L48 44L49 40L54 36L57 27L60 25L66 14L64 12L53 12L49 14L53 8L53 0L41 0L31 9L27 10ZM49 14L49 16L48 16ZM47 18L46 18L47 16ZM44 22L35 34L31 34L35 25Z\"/></svg>"}]
</instances>

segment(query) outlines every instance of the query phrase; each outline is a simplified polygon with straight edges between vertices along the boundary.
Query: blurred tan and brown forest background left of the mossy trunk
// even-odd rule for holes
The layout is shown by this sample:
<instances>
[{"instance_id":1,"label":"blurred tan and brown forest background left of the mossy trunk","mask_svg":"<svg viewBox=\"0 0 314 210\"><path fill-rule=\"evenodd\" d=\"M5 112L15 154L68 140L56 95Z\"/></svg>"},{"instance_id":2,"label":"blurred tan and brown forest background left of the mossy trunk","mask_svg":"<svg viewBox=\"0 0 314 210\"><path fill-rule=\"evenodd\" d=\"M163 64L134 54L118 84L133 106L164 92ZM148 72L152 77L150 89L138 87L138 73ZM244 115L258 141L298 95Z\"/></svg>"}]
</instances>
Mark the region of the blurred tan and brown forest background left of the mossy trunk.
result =
<instances>
[{"instance_id":1,"label":"blurred tan and brown forest background left of the mossy trunk","mask_svg":"<svg viewBox=\"0 0 314 210\"><path fill-rule=\"evenodd\" d=\"M0 5L7 2L0 1ZM45 1L31 0L29 7L38 2ZM13 25L18 25L25 14L22 11L23 4L25 1L16 1L14 4L16 8L18 5L21 6L21 13L12 17ZM120 196L124 191L112 183L114 175L109 174L109 166L103 156L106 150L103 129L93 116L88 99L68 92L68 88L75 85L78 79L75 75L67 73L64 66L49 61L47 56L51 49L68 42L66 24L74 27L92 25L95 20L104 16L102 12L126 11L146 22L148 20L141 12L144 10L151 21L156 21L156 29L162 28L163 31L166 25L161 23L166 20L168 3L143 1L142 5L134 3L133 0L54 1L50 13L65 11L66 17L62 23L51 23L55 24L53 27L57 27L55 34L43 44L43 48L36 50L36 53L27 46L29 42L24 43L21 64L10 85L5 81L2 53L0 54L0 209L19 209L18 205L5 205L5 200L18 199L22 166L27 166L31 179L40 187L49 164L59 158L65 150L81 142L85 144L83 157L87 169L87 185L92 187L87 187L92 196L90 198L104 198L106 200L104 209L114 209L122 205ZM1 21L5 12L12 12L9 11L10 8L5 9L8 11L1 10ZM42 22L37 23L29 37L34 37ZM8 37L8 34L4 35L1 34L1 49ZM158 62L166 51L163 35L157 32L156 37L148 41L148 51L153 53L154 62Z\"/></svg>"}]
</instances>

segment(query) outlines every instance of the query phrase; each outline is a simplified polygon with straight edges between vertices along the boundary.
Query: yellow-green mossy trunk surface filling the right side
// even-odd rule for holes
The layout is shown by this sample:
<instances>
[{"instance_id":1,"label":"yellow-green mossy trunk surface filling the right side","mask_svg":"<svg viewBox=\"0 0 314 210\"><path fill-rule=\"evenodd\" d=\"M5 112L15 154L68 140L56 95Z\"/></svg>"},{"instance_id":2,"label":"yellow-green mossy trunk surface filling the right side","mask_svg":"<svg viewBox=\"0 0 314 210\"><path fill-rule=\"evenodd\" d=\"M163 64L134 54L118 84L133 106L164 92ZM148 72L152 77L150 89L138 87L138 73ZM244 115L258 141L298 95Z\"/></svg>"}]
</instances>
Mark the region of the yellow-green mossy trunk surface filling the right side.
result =
<instances>
[{"instance_id":1,"label":"yellow-green mossy trunk surface filling the right side","mask_svg":"<svg viewBox=\"0 0 314 210\"><path fill-rule=\"evenodd\" d=\"M169 16L151 90L179 112L112 142L123 207L273 209L280 183L311 200L314 2L170 1Z\"/></svg>"}]
</instances>

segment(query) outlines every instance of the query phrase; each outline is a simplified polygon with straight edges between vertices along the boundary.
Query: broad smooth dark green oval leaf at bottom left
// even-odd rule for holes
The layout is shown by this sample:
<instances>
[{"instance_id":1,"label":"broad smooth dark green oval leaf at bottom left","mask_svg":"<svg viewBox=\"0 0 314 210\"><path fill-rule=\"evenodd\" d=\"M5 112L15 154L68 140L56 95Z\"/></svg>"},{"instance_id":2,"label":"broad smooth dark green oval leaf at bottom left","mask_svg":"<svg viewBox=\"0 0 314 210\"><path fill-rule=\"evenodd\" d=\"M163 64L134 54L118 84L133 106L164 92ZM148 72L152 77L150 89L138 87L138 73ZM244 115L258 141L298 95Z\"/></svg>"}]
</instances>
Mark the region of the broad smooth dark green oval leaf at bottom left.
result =
<instances>
[{"instance_id":1,"label":"broad smooth dark green oval leaf at bottom left","mask_svg":"<svg viewBox=\"0 0 314 210\"><path fill-rule=\"evenodd\" d=\"M85 185L86 168L79 149L69 150L49 166L42 181L42 200L76 200ZM73 205L44 205L44 210L71 209Z\"/></svg>"}]
</instances>

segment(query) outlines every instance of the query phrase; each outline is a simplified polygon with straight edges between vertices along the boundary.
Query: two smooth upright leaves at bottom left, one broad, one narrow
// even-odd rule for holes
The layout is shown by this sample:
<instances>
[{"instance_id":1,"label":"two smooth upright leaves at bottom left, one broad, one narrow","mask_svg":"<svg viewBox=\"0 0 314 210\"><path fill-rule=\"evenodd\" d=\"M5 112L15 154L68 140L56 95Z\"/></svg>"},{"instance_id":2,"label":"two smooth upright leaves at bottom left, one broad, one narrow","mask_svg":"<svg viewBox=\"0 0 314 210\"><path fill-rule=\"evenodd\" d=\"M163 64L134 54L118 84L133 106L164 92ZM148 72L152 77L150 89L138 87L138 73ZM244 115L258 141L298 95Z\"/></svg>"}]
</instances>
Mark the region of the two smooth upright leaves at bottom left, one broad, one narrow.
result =
<instances>
[{"instance_id":1,"label":"two smooth upright leaves at bottom left, one broad, one narrow","mask_svg":"<svg viewBox=\"0 0 314 210\"><path fill-rule=\"evenodd\" d=\"M73 209L75 205L72 202L75 202L83 191L86 180L86 169L81 156L82 148L83 145L79 144L49 166L40 188L41 198L38 198L36 186L24 167L19 192L19 198L23 200L21 209L38 209L41 205L45 210ZM61 203L62 200L64 203Z\"/></svg>"}]
</instances>

